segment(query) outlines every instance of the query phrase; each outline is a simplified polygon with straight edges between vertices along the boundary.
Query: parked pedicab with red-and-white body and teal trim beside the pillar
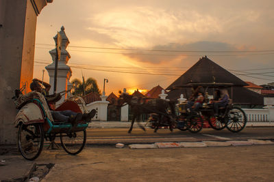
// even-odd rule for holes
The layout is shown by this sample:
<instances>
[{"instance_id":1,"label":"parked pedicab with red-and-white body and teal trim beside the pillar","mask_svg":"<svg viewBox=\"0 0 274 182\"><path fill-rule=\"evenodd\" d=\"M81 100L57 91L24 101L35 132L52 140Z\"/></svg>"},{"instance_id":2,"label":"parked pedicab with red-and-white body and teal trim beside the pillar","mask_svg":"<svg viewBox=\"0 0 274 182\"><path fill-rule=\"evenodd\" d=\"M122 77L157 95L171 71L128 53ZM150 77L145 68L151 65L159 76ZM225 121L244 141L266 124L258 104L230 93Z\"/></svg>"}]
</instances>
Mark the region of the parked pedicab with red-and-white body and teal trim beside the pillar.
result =
<instances>
[{"instance_id":1,"label":"parked pedicab with red-and-white body and teal trim beside the pillar","mask_svg":"<svg viewBox=\"0 0 274 182\"><path fill-rule=\"evenodd\" d=\"M62 148L66 153L77 155L86 144L86 121L71 123L54 121L45 97L36 91L23 95L15 91L14 102L18 109L14 126L18 127L18 149L27 160L35 160L44 146L44 139L53 141L60 137ZM71 97L55 110L72 110L87 112L82 97Z\"/></svg>"}]
</instances>

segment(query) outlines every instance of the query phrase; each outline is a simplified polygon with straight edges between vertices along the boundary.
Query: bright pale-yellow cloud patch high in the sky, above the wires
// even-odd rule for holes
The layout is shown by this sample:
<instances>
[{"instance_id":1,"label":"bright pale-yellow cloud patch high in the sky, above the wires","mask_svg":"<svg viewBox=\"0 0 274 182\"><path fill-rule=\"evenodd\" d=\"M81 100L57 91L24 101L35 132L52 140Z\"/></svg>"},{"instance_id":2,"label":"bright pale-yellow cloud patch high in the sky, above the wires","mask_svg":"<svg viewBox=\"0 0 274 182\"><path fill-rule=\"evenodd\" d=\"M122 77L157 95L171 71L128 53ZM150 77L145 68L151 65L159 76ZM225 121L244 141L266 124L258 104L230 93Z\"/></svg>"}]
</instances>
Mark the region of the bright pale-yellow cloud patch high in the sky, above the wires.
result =
<instances>
[{"instance_id":1,"label":"bright pale-yellow cloud patch high in the sky, above the wires","mask_svg":"<svg viewBox=\"0 0 274 182\"><path fill-rule=\"evenodd\" d=\"M187 40L188 35L202 37L222 28L214 16L194 10L172 12L156 7L131 7L90 17L90 31L109 35L118 46L151 47L164 42Z\"/></svg>"}]
</instances>

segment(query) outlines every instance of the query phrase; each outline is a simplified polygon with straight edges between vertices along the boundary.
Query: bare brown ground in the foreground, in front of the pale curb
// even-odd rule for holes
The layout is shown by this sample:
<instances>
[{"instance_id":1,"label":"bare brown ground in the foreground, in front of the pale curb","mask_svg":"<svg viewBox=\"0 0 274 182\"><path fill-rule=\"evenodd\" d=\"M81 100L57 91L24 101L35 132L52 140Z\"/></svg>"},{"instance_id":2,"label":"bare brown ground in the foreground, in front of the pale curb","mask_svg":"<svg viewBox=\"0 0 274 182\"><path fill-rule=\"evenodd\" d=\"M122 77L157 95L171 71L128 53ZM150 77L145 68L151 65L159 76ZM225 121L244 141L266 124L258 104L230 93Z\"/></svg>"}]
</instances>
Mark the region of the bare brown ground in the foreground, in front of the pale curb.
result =
<instances>
[{"instance_id":1,"label":"bare brown ground in the foreground, in front of the pale curb","mask_svg":"<svg viewBox=\"0 0 274 182\"><path fill-rule=\"evenodd\" d=\"M22 159L23 160L23 159ZM273 181L274 145L173 149L86 147L77 156L45 151L43 181Z\"/></svg>"}]
</instances>

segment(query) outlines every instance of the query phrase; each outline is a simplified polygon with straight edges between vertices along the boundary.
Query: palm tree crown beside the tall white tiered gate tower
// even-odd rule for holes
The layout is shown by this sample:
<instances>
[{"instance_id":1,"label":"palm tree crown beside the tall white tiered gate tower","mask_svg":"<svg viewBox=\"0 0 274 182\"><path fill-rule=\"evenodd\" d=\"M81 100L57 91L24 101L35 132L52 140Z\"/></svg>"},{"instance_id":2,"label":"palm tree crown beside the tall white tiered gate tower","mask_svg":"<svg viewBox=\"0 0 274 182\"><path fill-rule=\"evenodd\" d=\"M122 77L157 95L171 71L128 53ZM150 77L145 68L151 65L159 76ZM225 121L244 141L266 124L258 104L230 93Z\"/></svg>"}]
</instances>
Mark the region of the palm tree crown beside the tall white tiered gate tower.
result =
<instances>
[{"instance_id":1,"label":"palm tree crown beside the tall white tiered gate tower","mask_svg":"<svg viewBox=\"0 0 274 182\"><path fill-rule=\"evenodd\" d=\"M86 81L84 80L84 82L82 82L78 78L75 78L72 80L71 83L73 84L73 95L84 96L85 91L86 94L95 92L101 95L101 91L99 90L97 81L94 78L88 78Z\"/></svg>"}]
</instances>

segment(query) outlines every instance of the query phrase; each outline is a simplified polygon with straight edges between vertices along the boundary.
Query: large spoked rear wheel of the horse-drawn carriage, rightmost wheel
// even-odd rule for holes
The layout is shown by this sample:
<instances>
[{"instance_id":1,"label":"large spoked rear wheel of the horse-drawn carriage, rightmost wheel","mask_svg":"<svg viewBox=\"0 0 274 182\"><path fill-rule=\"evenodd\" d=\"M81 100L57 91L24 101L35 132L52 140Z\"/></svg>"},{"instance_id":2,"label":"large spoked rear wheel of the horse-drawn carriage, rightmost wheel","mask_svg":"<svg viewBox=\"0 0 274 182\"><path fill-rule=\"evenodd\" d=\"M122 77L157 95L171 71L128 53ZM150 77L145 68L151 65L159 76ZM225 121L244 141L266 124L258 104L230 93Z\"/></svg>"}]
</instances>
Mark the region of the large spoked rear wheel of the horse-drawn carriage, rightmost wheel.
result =
<instances>
[{"instance_id":1,"label":"large spoked rear wheel of the horse-drawn carriage, rightmost wheel","mask_svg":"<svg viewBox=\"0 0 274 182\"><path fill-rule=\"evenodd\" d=\"M227 117L228 121L226 127L230 132L240 132L245 128L247 116L241 108L233 107L227 113Z\"/></svg>"}]
</instances>

